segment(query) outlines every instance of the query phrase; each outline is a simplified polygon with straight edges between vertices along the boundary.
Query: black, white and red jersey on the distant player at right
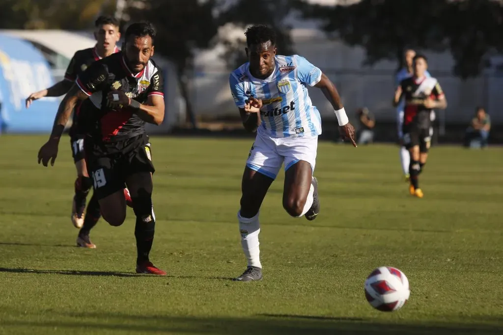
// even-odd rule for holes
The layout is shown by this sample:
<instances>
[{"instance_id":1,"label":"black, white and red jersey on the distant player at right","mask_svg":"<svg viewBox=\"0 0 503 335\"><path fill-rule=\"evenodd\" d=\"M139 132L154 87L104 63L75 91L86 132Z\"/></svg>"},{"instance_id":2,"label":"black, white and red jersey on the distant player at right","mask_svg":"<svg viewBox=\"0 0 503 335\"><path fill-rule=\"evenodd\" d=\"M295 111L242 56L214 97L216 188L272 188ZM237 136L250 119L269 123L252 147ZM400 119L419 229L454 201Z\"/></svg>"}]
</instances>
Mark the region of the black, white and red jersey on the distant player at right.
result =
<instances>
[{"instance_id":1,"label":"black, white and red jersey on the distant player at right","mask_svg":"<svg viewBox=\"0 0 503 335\"><path fill-rule=\"evenodd\" d=\"M402 96L405 100L403 125L415 123L420 128L430 128L431 108L426 108L425 100L431 98L439 100L444 92L436 78L406 78L400 82Z\"/></svg>"}]
</instances>

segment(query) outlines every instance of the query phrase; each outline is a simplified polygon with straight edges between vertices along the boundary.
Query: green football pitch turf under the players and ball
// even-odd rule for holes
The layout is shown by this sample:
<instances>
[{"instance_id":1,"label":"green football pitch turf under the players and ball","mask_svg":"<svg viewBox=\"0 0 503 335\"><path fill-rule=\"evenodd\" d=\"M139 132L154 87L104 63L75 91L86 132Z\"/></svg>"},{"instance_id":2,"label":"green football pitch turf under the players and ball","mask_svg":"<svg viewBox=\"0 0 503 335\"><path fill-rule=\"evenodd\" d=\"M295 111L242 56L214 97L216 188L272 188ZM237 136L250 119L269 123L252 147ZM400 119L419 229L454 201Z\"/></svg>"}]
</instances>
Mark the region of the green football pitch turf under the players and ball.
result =
<instances>
[{"instance_id":1,"label":"green football pitch turf under the players and ball","mask_svg":"<svg viewBox=\"0 0 503 335\"><path fill-rule=\"evenodd\" d=\"M0 137L0 334L503 334L503 150L434 147L423 199L398 148L320 143L317 219L282 207L283 172L261 209L264 280L245 260L236 212L253 140L153 137L156 235L165 277L137 275L134 213L100 220L75 247L68 137L52 168L47 136ZM89 199L89 198L88 198ZM374 310L378 266L410 281L399 311Z\"/></svg>"}]
</instances>

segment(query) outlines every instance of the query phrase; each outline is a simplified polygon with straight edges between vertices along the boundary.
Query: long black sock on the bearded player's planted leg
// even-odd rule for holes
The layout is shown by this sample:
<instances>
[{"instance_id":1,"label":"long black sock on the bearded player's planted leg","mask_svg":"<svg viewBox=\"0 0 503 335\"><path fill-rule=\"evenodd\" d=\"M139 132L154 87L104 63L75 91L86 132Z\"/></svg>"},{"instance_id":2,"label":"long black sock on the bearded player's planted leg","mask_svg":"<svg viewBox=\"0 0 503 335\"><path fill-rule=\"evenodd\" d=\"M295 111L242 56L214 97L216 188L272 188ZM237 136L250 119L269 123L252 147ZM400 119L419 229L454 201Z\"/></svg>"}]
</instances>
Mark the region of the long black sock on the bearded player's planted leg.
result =
<instances>
[{"instance_id":1,"label":"long black sock on the bearded player's planted leg","mask_svg":"<svg viewBox=\"0 0 503 335\"><path fill-rule=\"evenodd\" d=\"M152 249L155 231L155 215L152 209L151 195L144 195L133 200L133 209L136 215L134 236L136 237L136 250L138 257L136 263L149 262L148 255Z\"/></svg>"}]
</instances>

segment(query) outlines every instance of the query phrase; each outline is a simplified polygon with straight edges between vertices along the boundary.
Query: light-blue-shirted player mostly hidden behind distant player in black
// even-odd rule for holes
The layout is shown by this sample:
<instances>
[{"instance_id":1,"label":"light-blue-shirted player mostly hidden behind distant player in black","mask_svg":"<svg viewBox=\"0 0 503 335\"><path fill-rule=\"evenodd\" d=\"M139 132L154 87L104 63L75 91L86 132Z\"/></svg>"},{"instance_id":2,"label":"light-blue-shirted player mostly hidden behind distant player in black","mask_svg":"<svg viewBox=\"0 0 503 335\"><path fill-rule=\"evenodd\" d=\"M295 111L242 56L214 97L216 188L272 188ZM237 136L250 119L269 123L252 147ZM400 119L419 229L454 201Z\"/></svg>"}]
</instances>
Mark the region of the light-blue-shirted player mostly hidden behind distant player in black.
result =
<instances>
[{"instance_id":1,"label":"light-blue-shirted player mostly hidden behind distant player in black","mask_svg":"<svg viewBox=\"0 0 503 335\"><path fill-rule=\"evenodd\" d=\"M400 82L406 78L410 78L413 75L413 69L412 69L412 59L415 56L415 51L412 49L407 49L405 50L404 53L404 58L405 58L405 67L402 68L400 71L395 76L395 87L400 84ZM425 72L425 75L427 77L431 77L430 73L428 71ZM409 182L410 179L410 174L409 174L409 165L410 165L410 154L408 150L405 148L405 145L403 144L403 108L404 108L404 101L401 100L400 103L398 104L396 108L396 123L398 126L398 139L400 140L400 162L402 164L402 171L403 175L405 177L405 181ZM432 110L432 121L434 121L435 118L435 111ZM433 127L431 128L431 132L433 133ZM433 135L433 134L431 134ZM430 136L431 136L430 135Z\"/></svg>"}]
</instances>

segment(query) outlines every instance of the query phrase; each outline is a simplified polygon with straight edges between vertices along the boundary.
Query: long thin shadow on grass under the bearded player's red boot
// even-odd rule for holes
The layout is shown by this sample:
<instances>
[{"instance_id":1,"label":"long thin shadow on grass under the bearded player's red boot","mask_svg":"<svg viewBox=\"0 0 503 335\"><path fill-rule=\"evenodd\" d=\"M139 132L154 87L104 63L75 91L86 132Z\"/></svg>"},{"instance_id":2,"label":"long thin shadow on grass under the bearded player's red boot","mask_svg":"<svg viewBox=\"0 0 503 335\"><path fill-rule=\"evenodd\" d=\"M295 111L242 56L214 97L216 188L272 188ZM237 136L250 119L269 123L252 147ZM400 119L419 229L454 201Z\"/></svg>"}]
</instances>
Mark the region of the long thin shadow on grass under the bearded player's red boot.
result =
<instances>
[{"instance_id":1,"label":"long thin shadow on grass under the bearded player's red boot","mask_svg":"<svg viewBox=\"0 0 503 335\"><path fill-rule=\"evenodd\" d=\"M200 276L155 276L145 275L141 273L128 273L116 271L79 271L79 270L37 270L37 269L23 269L23 268L0 268L1 272L10 273L33 273L33 274L56 274L56 275L70 275L70 276L109 276L109 277L159 277L159 278L180 278L180 279L215 279L215 280L229 280L229 277L200 277Z\"/></svg>"}]
</instances>

